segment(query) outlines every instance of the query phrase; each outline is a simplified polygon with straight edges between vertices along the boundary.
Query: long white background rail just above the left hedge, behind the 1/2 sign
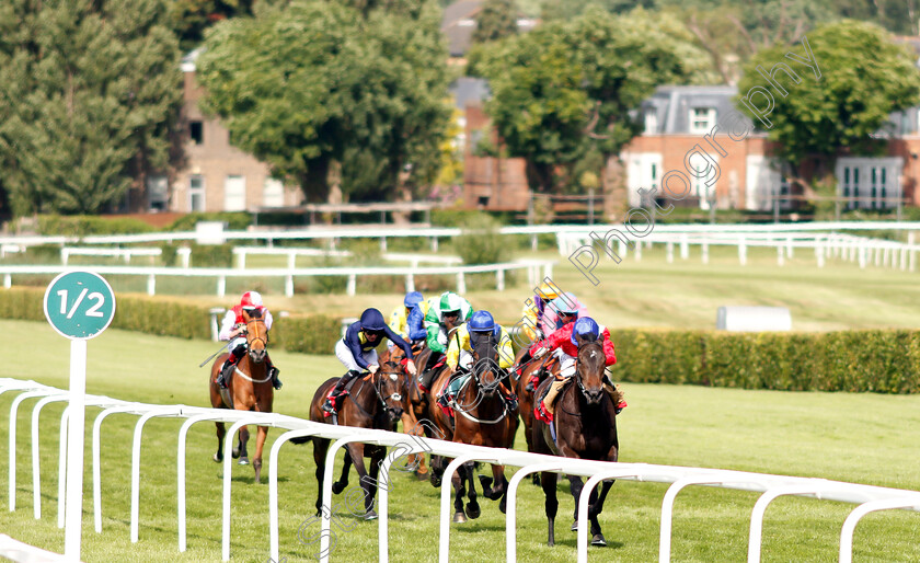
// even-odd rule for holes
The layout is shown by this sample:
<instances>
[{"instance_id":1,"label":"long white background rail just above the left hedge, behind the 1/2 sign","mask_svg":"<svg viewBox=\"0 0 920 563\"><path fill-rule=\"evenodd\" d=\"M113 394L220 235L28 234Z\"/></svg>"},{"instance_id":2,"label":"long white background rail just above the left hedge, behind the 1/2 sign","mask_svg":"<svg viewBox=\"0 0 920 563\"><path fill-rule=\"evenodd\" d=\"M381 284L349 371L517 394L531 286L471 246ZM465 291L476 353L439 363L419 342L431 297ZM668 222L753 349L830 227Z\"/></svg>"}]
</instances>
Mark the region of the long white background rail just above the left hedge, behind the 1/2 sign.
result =
<instances>
[{"instance_id":1,"label":"long white background rail just above the left hedge, behind the 1/2 sign","mask_svg":"<svg viewBox=\"0 0 920 563\"><path fill-rule=\"evenodd\" d=\"M468 274L495 274L495 289L504 291L505 273L515 269L527 271L529 285L536 286L541 279L552 277L552 260L529 260L518 262L506 262L502 264L482 264L479 266L402 266L402 267L329 267L329 268L169 268L169 267L140 267L140 266L92 266L93 272L101 275L117 276L141 276L147 278L147 294L157 295L157 276L173 277L209 277L217 279L216 295L223 297L227 292L227 278L258 278L275 277L285 282L285 295L294 296L294 279L297 277L317 276L344 276L346 278L345 291L354 296L357 287L358 276L403 276L405 277L405 290L415 290L415 276L419 275L442 275L455 276L457 292L467 292ZM10 288L13 285L14 275L57 275L61 272L77 271L87 266L64 267L60 266L25 266L0 264L0 275L3 276L3 287ZM542 277L541 277L542 271Z\"/></svg>"}]
</instances>

